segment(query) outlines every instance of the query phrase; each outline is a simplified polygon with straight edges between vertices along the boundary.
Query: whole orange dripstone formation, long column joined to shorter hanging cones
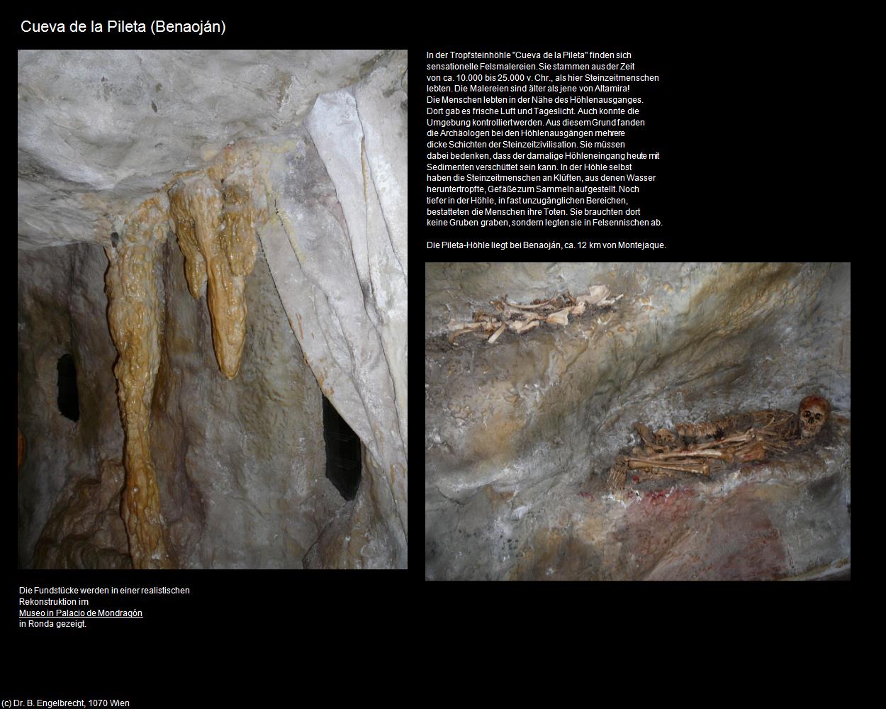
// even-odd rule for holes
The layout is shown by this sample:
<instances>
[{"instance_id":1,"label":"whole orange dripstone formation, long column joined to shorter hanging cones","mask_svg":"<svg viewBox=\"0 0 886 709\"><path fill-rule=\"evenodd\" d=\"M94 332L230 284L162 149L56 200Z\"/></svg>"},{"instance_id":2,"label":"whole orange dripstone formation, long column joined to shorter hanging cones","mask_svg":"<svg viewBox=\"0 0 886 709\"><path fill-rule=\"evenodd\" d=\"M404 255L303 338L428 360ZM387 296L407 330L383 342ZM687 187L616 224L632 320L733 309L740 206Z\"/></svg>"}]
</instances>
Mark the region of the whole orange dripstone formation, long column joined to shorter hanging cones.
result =
<instances>
[{"instance_id":1,"label":"whole orange dripstone formation, long column joined to shorter hanging cones","mask_svg":"<svg viewBox=\"0 0 886 709\"><path fill-rule=\"evenodd\" d=\"M226 158L229 156L226 156ZM194 298L208 284L219 368L232 379L240 369L246 331L245 277L258 242L250 191L216 170L181 176L165 194L145 201L129 216L120 235L105 247L108 324L120 358L114 366L120 415L126 433L126 485L120 514L126 525L134 568L174 565L164 539L159 488L151 460L151 401L159 369L160 305L155 264L170 218L185 259Z\"/></svg>"}]
</instances>

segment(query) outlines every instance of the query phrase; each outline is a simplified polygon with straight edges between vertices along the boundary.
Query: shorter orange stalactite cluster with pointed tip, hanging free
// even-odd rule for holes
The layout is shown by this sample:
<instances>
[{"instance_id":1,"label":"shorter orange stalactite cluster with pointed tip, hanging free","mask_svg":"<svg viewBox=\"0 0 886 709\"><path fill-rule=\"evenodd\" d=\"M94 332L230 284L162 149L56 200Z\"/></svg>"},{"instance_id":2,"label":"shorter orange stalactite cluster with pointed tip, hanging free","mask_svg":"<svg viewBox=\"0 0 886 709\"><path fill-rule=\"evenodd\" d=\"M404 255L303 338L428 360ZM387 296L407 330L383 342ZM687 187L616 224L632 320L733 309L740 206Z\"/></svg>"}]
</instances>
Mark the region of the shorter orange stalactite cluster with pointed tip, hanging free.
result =
<instances>
[{"instance_id":1,"label":"shorter orange stalactite cluster with pointed tip, hanging free","mask_svg":"<svg viewBox=\"0 0 886 709\"><path fill-rule=\"evenodd\" d=\"M185 259L190 294L206 302L213 323L219 369L233 379L240 370L246 335L246 275L258 244L249 192L205 174L189 175L169 187L169 211Z\"/></svg>"}]
</instances>

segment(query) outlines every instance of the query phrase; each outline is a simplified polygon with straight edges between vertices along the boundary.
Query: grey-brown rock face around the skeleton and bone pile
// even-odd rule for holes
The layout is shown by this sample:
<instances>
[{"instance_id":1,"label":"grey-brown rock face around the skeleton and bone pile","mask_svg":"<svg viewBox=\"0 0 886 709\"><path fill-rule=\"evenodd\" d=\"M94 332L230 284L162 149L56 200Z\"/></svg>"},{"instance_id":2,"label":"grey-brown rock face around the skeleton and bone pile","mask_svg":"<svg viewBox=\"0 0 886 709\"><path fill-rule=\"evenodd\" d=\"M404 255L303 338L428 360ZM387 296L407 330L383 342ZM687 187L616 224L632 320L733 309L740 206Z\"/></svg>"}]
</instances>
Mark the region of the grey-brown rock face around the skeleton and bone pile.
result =
<instances>
[{"instance_id":1,"label":"grey-brown rock face around the skeleton and bone pile","mask_svg":"<svg viewBox=\"0 0 886 709\"><path fill-rule=\"evenodd\" d=\"M504 294L604 284L624 298L494 345L443 336ZM785 579L848 573L850 267L827 263L428 264L429 579ZM830 401L783 456L628 480L615 455L655 431Z\"/></svg>"}]
</instances>

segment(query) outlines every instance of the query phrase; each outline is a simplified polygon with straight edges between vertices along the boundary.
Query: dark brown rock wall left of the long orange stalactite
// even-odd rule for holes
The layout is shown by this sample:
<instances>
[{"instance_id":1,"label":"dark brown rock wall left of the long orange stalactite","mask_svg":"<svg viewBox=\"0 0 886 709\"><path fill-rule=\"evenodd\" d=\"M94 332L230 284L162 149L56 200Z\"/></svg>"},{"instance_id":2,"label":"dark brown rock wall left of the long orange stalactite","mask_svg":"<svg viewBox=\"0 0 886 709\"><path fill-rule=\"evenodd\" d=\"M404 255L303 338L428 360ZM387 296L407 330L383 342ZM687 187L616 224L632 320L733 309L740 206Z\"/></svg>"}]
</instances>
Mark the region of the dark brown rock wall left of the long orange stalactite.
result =
<instances>
[{"instance_id":1,"label":"dark brown rock wall left of the long orange stalactite","mask_svg":"<svg viewBox=\"0 0 886 709\"><path fill-rule=\"evenodd\" d=\"M66 484L98 479L105 462L116 461L122 469L123 429L104 250L81 244L19 251L18 261L19 428L27 440L19 471L19 565L27 567ZM72 354L77 368L76 423L58 411L56 365L63 354ZM119 518L119 488L116 493ZM128 554L125 533L122 543L120 551Z\"/></svg>"}]
</instances>

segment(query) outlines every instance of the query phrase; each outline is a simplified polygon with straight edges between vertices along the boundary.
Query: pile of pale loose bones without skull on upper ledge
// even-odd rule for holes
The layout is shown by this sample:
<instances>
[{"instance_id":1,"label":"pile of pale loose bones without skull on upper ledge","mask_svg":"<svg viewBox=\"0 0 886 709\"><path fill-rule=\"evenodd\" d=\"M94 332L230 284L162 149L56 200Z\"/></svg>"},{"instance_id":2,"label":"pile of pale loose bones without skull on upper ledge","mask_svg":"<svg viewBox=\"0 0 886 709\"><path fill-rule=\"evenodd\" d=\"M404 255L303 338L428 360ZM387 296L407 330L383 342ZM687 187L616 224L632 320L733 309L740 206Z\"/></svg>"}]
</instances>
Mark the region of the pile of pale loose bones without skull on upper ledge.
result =
<instances>
[{"instance_id":1,"label":"pile of pale loose bones without skull on upper ledge","mask_svg":"<svg viewBox=\"0 0 886 709\"><path fill-rule=\"evenodd\" d=\"M522 335L543 324L569 324L569 316L578 317L585 313L602 308L610 308L621 295L610 297L610 290L605 285L592 285L584 295L574 298L569 292L561 293L548 300L533 300L528 305L509 302L508 296L490 300L494 313L477 312L470 323L451 322L447 325L449 342L455 344L455 338L469 332L489 336L488 342L494 344L505 330Z\"/></svg>"}]
</instances>

